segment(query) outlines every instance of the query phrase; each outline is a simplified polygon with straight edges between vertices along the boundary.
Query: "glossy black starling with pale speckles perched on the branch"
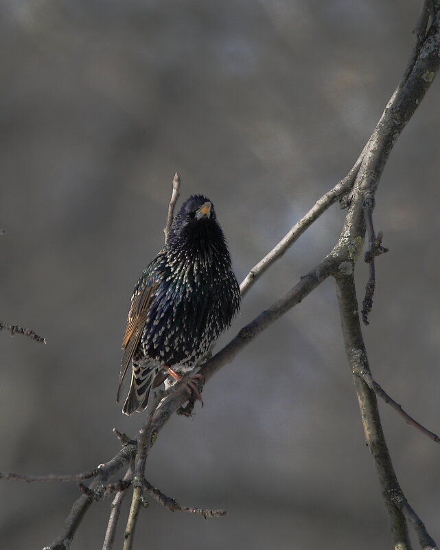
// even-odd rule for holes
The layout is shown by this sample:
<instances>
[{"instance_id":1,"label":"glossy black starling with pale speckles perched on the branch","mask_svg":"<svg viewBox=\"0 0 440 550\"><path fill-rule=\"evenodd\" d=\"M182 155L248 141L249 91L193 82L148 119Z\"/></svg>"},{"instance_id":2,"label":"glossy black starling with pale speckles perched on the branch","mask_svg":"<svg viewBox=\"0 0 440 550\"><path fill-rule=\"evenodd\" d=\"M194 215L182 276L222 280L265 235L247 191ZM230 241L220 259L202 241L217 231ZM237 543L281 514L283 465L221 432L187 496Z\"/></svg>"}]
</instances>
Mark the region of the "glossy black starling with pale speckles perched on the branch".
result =
<instances>
[{"instance_id":1,"label":"glossy black starling with pale speckles perched on the branch","mask_svg":"<svg viewBox=\"0 0 440 550\"><path fill-rule=\"evenodd\" d=\"M189 197L165 247L143 271L131 298L122 341L119 393L132 374L122 412L146 408L151 388L200 364L240 309L240 286L211 200Z\"/></svg>"}]
</instances>

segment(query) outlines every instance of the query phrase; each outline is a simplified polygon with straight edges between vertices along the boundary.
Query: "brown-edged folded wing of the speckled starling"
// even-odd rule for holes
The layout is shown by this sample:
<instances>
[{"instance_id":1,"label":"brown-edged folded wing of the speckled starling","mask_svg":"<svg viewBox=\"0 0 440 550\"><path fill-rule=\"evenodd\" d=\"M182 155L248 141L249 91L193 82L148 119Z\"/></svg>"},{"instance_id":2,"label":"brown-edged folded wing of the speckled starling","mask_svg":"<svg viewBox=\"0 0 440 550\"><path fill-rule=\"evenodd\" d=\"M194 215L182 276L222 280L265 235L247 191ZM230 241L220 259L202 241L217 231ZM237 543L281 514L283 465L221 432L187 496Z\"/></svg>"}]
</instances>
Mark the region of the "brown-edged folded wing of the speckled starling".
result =
<instances>
[{"instance_id":1,"label":"brown-edged folded wing of the speckled starling","mask_svg":"<svg viewBox=\"0 0 440 550\"><path fill-rule=\"evenodd\" d=\"M150 283L150 284L148 284ZM126 375L128 365L132 360L133 354L136 351L143 328L145 327L148 309L154 295L154 290L159 286L159 282L143 282L138 285L135 293L131 299L130 311L128 312L128 318L126 328L124 331L124 339L122 339L122 349L124 350L124 356L121 361L121 371L119 373L119 385L117 388L117 402L119 402L119 393L121 391L122 380Z\"/></svg>"}]
</instances>

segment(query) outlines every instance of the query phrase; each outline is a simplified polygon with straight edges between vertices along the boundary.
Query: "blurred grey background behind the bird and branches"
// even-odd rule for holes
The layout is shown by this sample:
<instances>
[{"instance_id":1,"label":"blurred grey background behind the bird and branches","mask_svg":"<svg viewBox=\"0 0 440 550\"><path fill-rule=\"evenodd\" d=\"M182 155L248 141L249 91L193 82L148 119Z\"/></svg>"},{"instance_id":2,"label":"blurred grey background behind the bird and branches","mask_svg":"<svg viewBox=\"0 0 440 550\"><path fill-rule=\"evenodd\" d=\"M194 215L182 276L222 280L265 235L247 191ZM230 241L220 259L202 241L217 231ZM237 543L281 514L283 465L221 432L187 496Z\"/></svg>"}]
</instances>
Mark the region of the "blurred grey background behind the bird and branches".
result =
<instances>
[{"instance_id":1,"label":"blurred grey background behind the bird and branches","mask_svg":"<svg viewBox=\"0 0 440 550\"><path fill-rule=\"evenodd\" d=\"M0 5L0 470L111 458L120 342L137 277L163 244L174 172L209 196L242 280L354 163L406 66L410 0L3 0ZM440 431L437 80L377 194L373 374ZM335 205L255 285L226 342L319 262ZM359 265L359 295L367 280ZM194 419L174 417L147 477L208 521L152 503L137 550L391 547L328 280L225 367ZM440 539L439 448L382 406L402 487ZM49 544L74 483L1 482L0 546ZM102 546L110 501L72 549ZM124 509L123 518L126 516ZM124 519L121 528L125 525ZM115 548L121 547L121 532Z\"/></svg>"}]
</instances>

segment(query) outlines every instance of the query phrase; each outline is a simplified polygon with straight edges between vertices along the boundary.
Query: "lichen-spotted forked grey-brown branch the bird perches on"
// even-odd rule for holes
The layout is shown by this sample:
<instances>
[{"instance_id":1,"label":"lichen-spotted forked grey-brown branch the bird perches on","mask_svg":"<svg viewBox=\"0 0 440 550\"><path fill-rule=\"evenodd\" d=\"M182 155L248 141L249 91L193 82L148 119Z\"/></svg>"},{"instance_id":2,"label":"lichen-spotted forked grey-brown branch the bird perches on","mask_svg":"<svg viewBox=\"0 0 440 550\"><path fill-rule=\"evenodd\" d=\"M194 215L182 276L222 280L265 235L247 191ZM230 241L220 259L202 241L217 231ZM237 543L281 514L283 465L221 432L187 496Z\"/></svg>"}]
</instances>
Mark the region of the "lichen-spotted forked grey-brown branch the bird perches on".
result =
<instances>
[{"instance_id":1,"label":"lichen-spotted forked grey-brown branch the bird perches on","mask_svg":"<svg viewBox=\"0 0 440 550\"><path fill-rule=\"evenodd\" d=\"M327 279L329 276L334 276L338 288L345 347L351 365L351 371L354 373L354 385L358 395L365 437L378 470L378 477L382 485L386 507L391 519L395 547L399 547L401 550L410 550L407 520L415 528L422 548L426 550L434 549L435 542L428 534L420 518L415 514L413 508L410 507L406 501L402 489L397 482L389 451L386 447L382 427L380 425L375 392L368 384L368 381L370 381L371 384L372 382L367 376L369 375L369 365L362 340L362 332L360 330L358 301L354 288L354 268L356 260L362 251L366 221L368 223L368 214L366 214L364 207L365 199L369 196L374 196L380 177L382 176L384 165L397 137L399 137L406 123L410 117L412 117L415 109L424 98L426 91L439 69L440 3L438 0L435 0L432 4L425 3L424 5L425 7L428 6L429 13L428 16L426 16L427 12L425 10L417 25L417 43L408 64L408 69L400 84L397 86L391 100L387 104L378 125L373 131L358 161L356 161L349 174L347 174L347 176L332 190L321 197L314 207L312 207L312 209L292 227L286 237L251 270L242 283L242 294L244 295L247 292L253 282L255 282L255 280L261 276L277 258L283 255L292 242L297 240L303 231L310 227L323 211L338 200L338 198L340 199L343 196L348 196L349 200L345 202L349 208L345 217L343 231L334 248L322 262L319 262L319 264L317 264L308 275L294 285L286 295L277 300L273 306L260 313L251 323L248 323L248 325L242 328L229 344L224 346L218 354L213 356L213 358L208 360L207 363L200 368L200 374L205 378L205 383L209 382L211 377L216 374L220 368L230 363L248 343L251 343L251 341L262 332L262 330L265 330L270 324L279 319L281 315L296 306L297 303L319 286L323 280ZM429 19L431 19L431 25L428 28ZM179 183L180 180L176 174L173 181L173 193L168 210L167 224L164 229L165 240L169 234L172 223L174 205L178 197ZM378 238L371 238L372 234L373 232L369 231L369 251L372 257L375 257L382 245ZM371 244L371 242L373 244ZM364 379L356 374L356 371L363 372ZM375 390L377 390L377 388ZM160 398L163 399L159 403ZM91 503L108 494L108 492L116 491L117 494L115 496L115 501L113 501L114 505L108 523L106 542L104 542L104 550L110 550L113 545L117 517L119 516L123 493L126 487L130 485L130 481L133 486L133 496L124 543L124 548L126 550L132 547L137 517L144 503L143 492L151 494L162 504L169 503L171 507L176 507L175 509L181 509L192 513L201 513L201 515L205 516L220 515L217 514L219 511L202 510L200 512L199 510L196 512L198 509L181 507L176 501L169 499L169 497L163 495L157 489L152 488L152 486L145 481L146 459L150 447L156 441L161 428L170 419L172 414L187 401L188 396L185 389L179 386L176 387L175 391L167 393L165 397L163 395L160 396L158 393L158 399L158 402L154 403L154 406L147 412L146 422L141 426L136 444L133 444L128 437L121 435L121 441L124 447L111 461L108 461L108 463L101 465L97 469L97 474L88 488L82 485L83 494L81 494L76 503L74 503L65 526L54 543L50 547L47 547L48 550L67 550L76 529L78 529ZM108 483L111 477L115 476L119 470L128 466L130 471L124 476L124 480L126 481L125 484L121 483L118 485L117 483ZM35 479L34 481L37 480ZM208 512L211 512L211 514Z\"/></svg>"}]
</instances>

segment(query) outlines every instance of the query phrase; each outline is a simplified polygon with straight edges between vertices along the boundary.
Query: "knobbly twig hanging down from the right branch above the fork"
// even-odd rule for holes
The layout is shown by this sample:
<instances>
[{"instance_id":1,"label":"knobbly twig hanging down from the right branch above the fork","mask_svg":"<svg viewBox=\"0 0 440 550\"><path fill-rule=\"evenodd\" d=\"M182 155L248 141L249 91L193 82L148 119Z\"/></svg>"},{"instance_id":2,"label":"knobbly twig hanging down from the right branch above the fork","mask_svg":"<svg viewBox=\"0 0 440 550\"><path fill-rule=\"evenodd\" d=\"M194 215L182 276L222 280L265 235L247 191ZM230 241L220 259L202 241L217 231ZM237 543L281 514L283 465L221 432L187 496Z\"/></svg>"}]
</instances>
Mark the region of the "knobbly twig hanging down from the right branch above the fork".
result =
<instances>
[{"instance_id":1,"label":"knobbly twig hanging down from the right branch above the fork","mask_svg":"<svg viewBox=\"0 0 440 550\"><path fill-rule=\"evenodd\" d=\"M362 321L365 325L369 325L368 315L373 308L373 296L375 291L375 266L374 259L376 256L388 252L388 249L382 247L382 231L378 233L378 236L375 236L374 226L373 226L373 209L375 201L373 192L369 191L365 194L363 209L364 209L364 218L365 226L367 229L368 236L368 250L365 253L364 260L369 264L369 279L367 285L365 286L365 297L362 301Z\"/></svg>"}]
</instances>

